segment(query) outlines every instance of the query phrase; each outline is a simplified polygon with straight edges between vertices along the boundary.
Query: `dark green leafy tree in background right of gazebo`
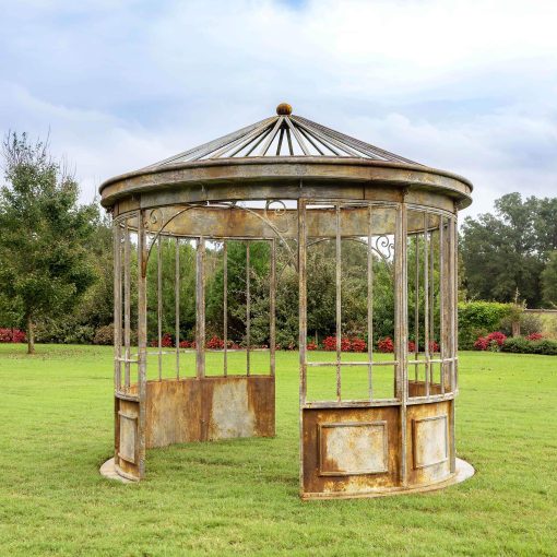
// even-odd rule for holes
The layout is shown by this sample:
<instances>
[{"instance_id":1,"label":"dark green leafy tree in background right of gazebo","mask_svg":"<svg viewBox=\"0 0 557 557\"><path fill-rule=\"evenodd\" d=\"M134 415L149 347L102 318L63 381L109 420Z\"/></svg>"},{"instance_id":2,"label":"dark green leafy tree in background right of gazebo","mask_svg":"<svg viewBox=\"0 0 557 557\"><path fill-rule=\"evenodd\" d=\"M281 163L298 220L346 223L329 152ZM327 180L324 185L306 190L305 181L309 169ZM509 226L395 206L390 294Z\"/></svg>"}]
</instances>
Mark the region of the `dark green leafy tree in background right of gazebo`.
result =
<instances>
[{"instance_id":1,"label":"dark green leafy tree in background right of gazebo","mask_svg":"<svg viewBox=\"0 0 557 557\"><path fill-rule=\"evenodd\" d=\"M467 217L462 227L469 295L512 301L518 289L535 307L542 303L542 271L557 249L557 199L523 201L520 193L509 193L495 202L495 211Z\"/></svg>"}]
</instances>

